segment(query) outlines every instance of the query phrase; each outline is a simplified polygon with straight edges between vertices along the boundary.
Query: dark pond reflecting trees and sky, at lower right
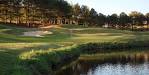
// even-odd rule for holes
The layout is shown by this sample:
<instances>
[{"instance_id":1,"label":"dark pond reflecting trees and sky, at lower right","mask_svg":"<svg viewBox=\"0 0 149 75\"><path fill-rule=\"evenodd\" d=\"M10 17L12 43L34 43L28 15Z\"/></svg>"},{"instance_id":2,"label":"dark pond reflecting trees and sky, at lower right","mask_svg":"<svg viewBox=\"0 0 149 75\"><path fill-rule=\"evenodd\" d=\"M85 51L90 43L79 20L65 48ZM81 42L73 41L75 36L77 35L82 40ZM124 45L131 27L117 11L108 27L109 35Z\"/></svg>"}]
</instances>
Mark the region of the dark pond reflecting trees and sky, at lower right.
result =
<instances>
[{"instance_id":1,"label":"dark pond reflecting trees and sky, at lower right","mask_svg":"<svg viewBox=\"0 0 149 75\"><path fill-rule=\"evenodd\" d=\"M149 52L82 56L56 75L149 75Z\"/></svg>"}]
</instances>

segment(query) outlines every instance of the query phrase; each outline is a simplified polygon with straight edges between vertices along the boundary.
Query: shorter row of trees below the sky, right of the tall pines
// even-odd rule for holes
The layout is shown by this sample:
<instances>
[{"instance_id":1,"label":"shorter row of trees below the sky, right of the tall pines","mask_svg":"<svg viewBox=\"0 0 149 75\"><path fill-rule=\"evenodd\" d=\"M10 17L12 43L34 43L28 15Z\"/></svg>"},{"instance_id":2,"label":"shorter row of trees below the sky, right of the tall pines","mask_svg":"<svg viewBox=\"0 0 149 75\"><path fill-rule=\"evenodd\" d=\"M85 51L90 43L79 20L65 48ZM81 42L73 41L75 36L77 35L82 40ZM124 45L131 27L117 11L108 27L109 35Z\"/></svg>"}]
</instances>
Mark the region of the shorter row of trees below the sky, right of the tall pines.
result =
<instances>
[{"instance_id":1,"label":"shorter row of trees below the sky, right of the tall pines","mask_svg":"<svg viewBox=\"0 0 149 75\"><path fill-rule=\"evenodd\" d=\"M149 13L145 15L138 11L132 11L129 14L121 12L120 14L104 15L96 12L94 8L87 6L80 6L75 4L73 6L73 15L77 18L80 17L80 21L88 23L91 26L101 26L109 28L119 29L149 29Z\"/></svg>"}]
</instances>

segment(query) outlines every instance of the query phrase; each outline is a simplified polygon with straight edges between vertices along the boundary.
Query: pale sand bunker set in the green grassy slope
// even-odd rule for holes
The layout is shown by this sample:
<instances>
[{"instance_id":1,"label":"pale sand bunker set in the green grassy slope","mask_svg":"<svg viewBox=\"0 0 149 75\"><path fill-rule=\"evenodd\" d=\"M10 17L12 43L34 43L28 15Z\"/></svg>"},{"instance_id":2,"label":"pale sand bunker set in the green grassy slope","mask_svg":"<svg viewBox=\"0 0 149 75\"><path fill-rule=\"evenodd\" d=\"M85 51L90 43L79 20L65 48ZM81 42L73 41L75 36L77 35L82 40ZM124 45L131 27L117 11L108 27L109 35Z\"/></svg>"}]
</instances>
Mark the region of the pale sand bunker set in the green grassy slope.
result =
<instances>
[{"instance_id":1,"label":"pale sand bunker set in the green grassy slope","mask_svg":"<svg viewBox=\"0 0 149 75\"><path fill-rule=\"evenodd\" d=\"M24 32L23 36L44 37L44 35L47 35L47 34L53 34L53 32L50 32L50 31L29 31L29 32Z\"/></svg>"}]
</instances>

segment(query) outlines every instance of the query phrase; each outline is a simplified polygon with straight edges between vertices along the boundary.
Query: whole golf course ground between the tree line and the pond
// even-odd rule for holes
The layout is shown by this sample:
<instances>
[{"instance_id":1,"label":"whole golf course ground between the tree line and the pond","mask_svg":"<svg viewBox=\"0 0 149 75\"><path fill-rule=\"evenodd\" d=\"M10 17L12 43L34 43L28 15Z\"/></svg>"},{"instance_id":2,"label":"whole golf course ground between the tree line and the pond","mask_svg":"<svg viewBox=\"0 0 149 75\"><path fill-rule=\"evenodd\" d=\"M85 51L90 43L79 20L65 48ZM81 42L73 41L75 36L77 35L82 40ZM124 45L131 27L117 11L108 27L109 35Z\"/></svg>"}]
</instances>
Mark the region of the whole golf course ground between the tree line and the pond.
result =
<instances>
[{"instance_id":1,"label":"whole golf course ground between the tree line and the pond","mask_svg":"<svg viewBox=\"0 0 149 75\"><path fill-rule=\"evenodd\" d=\"M25 32L29 33L36 31L50 32L50 34L47 33L38 36L24 36ZM73 56L78 57L81 53L79 51L80 49L88 49L89 45L86 46L87 48L85 48L85 44L88 43L95 43L95 46L96 43L100 43L101 46L105 45L105 49L107 49L106 45L108 45L108 47L111 45L111 51L112 49L119 49L116 45L118 45L120 49L125 49L125 47L121 47L121 44L126 45L126 49L129 47L132 48L131 44L133 43L134 45L132 44L132 46L135 49L138 48L138 46L139 48L147 47L147 41L149 41L148 37L149 31L142 32L130 30L116 30L100 27L84 27L79 25L60 25L52 26L49 28L22 28L1 24L0 75L32 75L33 71L35 71L35 74L39 74L38 70L36 71L33 69L33 71L31 71L27 66L28 64L33 64L33 66L35 66L34 64L36 64L36 66L37 64L43 64L43 66L40 66L41 69L39 70L39 72L47 74L47 72L45 72L45 68L49 68L47 67L48 64L43 63L44 60L39 60L42 59L42 55L47 57L46 59L49 59L49 61L57 63L61 61L57 53L59 53L59 55L61 56L65 56L65 54L67 56L71 55L72 57L70 58L73 58ZM79 47L79 49L77 49L78 45L82 44L82 48ZM128 47L127 44L129 44ZM116 48L114 48L114 46ZM104 47L101 49L104 49ZM92 49L98 48L93 47ZM36 62L37 59L38 61L43 62Z\"/></svg>"}]
</instances>

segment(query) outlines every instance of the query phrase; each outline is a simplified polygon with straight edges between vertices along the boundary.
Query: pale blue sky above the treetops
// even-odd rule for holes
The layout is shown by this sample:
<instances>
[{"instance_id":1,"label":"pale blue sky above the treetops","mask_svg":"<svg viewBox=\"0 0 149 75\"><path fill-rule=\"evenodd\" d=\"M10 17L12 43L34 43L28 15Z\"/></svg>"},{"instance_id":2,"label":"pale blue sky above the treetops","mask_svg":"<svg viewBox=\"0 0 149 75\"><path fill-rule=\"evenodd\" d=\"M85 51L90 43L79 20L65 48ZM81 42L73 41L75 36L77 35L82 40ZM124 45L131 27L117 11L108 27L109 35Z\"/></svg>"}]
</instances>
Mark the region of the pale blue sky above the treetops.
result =
<instances>
[{"instance_id":1,"label":"pale blue sky above the treetops","mask_svg":"<svg viewBox=\"0 0 149 75\"><path fill-rule=\"evenodd\" d=\"M97 12L103 14L112 14L120 12L139 11L142 13L149 12L149 0L67 0L71 4L79 3L95 8Z\"/></svg>"}]
</instances>

